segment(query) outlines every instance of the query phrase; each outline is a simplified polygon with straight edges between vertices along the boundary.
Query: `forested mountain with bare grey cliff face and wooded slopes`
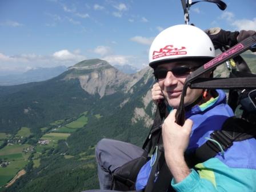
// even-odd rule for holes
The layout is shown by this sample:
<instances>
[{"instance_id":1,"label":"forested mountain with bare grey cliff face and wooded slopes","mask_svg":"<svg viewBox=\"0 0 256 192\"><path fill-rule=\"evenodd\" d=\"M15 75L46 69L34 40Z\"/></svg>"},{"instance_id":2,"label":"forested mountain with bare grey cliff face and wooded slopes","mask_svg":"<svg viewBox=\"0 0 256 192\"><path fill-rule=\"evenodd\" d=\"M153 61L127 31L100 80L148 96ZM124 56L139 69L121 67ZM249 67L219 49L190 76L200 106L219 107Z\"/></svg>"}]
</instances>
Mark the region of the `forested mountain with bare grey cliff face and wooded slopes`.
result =
<instances>
[{"instance_id":1,"label":"forested mountain with bare grey cliff face and wooded slopes","mask_svg":"<svg viewBox=\"0 0 256 192\"><path fill-rule=\"evenodd\" d=\"M0 133L9 135L1 150L16 145L34 147L28 152L26 174L2 190L82 191L98 187L96 143L101 138L115 138L142 145L146 137L154 111L152 72L146 68L123 74L106 61L91 59L47 81L0 86ZM19 137L25 130L29 134ZM47 145L38 143L48 140ZM6 155L6 161L11 162L18 153L6 152L2 160Z\"/></svg>"}]
</instances>

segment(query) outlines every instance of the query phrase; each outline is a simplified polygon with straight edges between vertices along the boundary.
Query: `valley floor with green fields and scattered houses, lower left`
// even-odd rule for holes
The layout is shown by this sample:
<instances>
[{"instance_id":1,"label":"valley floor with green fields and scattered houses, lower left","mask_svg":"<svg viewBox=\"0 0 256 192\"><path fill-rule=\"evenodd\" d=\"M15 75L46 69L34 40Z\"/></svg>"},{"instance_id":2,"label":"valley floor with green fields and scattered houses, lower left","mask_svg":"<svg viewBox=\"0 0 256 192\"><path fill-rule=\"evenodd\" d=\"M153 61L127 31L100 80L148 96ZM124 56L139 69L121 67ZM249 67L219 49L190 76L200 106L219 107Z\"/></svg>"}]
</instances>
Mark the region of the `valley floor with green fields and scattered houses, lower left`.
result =
<instances>
[{"instance_id":1,"label":"valley floor with green fields and scattered houses, lower left","mask_svg":"<svg viewBox=\"0 0 256 192\"><path fill-rule=\"evenodd\" d=\"M66 140L71 133L86 125L86 114L87 112L77 118L54 121L40 129L40 137L34 135L29 127L21 127L15 135L0 133L0 191L12 185L21 176L21 171L23 175L28 167L37 169L41 165L41 157L52 153L59 141ZM59 155L72 157L66 153ZM32 166L28 166L29 164Z\"/></svg>"}]
</instances>

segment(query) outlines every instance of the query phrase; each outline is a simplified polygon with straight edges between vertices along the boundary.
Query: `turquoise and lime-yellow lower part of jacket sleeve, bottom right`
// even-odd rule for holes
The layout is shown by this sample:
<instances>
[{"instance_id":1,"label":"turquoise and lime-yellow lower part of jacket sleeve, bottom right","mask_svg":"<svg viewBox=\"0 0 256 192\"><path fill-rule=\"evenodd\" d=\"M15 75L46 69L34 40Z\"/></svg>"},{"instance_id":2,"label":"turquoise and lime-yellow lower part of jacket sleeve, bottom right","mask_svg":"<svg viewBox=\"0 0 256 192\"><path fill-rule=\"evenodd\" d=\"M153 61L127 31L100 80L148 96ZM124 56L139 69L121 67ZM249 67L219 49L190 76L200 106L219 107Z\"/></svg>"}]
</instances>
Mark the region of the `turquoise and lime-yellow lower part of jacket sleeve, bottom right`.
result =
<instances>
[{"instance_id":1,"label":"turquoise and lime-yellow lower part of jacket sleeve, bottom right","mask_svg":"<svg viewBox=\"0 0 256 192\"><path fill-rule=\"evenodd\" d=\"M199 163L182 182L171 181L175 191L256 191L256 170L231 168L218 158Z\"/></svg>"}]
</instances>

